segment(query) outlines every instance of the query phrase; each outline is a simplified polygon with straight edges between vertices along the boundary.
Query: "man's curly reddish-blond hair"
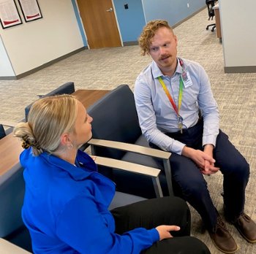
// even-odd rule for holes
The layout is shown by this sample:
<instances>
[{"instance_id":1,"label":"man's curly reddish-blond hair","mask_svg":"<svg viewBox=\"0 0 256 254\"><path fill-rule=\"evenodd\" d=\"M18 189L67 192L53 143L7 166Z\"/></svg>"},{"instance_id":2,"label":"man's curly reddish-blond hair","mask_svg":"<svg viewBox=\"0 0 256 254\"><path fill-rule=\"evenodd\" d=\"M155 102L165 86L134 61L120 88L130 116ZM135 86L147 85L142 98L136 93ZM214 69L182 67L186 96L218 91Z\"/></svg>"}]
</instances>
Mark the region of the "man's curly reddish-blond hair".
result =
<instances>
[{"instance_id":1,"label":"man's curly reddish-blond hair","mask_svg":"<svg viewBox=\"0 0 256 254\"><path fill-rule=\"evenodd\" d=\"M144 26L138 39L141 55L146 55L149 53L151 40L156 34L156 31L161 27L166 27L173 33L173 28L169 26L166 20L151 20L146 24L146 26Z\"/></svg>"}]
</instances>

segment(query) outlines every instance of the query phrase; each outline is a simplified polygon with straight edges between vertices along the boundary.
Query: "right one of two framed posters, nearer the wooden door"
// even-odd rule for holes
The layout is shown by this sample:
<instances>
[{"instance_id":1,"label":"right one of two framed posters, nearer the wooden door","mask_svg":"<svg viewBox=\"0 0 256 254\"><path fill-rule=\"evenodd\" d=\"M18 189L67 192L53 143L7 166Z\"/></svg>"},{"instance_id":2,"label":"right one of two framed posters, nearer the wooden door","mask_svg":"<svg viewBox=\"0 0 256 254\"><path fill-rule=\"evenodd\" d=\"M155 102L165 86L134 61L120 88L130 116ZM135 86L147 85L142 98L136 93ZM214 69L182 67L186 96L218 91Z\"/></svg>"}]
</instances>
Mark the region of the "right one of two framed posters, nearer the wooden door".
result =
<instances>
[{"instance_id":1,"label":"right one of two framed posters, nearer the wooden door","mask_svg":"<svg viewBox=\"0 0 256 254\"><path fill-rule=\"evenodd\" d=\"M26 22L42 18L37 0L18 0Z\"/></svg>"}]
</instances>

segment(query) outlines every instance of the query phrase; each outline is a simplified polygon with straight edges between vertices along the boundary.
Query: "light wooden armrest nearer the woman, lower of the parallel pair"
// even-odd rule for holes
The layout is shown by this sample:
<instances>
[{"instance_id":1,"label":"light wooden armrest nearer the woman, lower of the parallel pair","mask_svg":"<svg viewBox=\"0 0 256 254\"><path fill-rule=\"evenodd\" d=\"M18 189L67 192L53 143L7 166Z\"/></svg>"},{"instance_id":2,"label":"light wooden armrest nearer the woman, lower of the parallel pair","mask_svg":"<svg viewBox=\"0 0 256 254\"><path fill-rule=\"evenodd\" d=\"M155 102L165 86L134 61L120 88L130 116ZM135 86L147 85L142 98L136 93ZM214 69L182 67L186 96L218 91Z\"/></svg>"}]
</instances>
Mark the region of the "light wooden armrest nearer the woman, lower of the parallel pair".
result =
<instances>
[{"instance_id":1,"label":"light wooden armrest nearer the woman, lower of the parallel pair","mask_svg":"<svg viewBox=\"0 0 256 254\"><path fill-rule=\"evenodd\" d=\"M136 174L145 174L149 177L158 177L161 172L160 169L155 169L151 166L143 166L137 163L120 161L113 158L105 158L100 156L96 156L95 163L100 166L108 166L110 168L121 169Z\"/></svg>"}]
</instances>

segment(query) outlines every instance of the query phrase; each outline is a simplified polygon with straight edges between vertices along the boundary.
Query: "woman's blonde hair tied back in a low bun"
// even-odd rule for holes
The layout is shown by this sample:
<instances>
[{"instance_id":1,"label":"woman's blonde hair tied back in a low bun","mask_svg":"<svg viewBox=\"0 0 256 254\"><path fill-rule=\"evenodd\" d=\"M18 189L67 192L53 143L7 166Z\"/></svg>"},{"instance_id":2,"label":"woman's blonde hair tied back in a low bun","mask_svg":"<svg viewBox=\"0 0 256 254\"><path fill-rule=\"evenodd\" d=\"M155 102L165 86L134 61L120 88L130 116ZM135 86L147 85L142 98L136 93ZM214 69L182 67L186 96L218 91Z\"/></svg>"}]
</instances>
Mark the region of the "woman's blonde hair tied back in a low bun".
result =
<instances>
[{"instance_id":1,"label":"woman's blonde hair tied back in a low bun","mask_svg":"<svg viewBox=\"0 0 256 254\"><path fill-rule=\"evenodd\" d=\"M34 155L43 151L54 153L60 145L61 134L75 132L78 114L75 96L49 96L34 102L27 123L19 123L14 136L23 140L23 148L33 149Z\"/></svg>"}]
</instances>

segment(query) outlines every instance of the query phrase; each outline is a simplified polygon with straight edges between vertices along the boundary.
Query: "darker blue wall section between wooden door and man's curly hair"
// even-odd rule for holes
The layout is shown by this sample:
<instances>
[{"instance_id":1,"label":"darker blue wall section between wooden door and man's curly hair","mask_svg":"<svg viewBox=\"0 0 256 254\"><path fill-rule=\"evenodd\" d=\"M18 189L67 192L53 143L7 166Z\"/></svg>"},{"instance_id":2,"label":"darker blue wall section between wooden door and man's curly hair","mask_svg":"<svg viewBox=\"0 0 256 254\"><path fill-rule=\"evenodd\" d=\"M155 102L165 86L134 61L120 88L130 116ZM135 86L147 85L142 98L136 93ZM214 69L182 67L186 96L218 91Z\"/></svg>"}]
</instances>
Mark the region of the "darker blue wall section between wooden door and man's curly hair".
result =
<instances>
[{"instance_id":1,"label":"darker blue wall section between wooden door and man's curly hair","mask_svg":"<svg viewBox=\"0 0 256 254\"><path fill-rule=\"evenodd\" d=\"M123 42L137 41L146 25L141 0L113 0ZM128 4L128 9L124 9Z\"/></svg>"}]
</instances>

